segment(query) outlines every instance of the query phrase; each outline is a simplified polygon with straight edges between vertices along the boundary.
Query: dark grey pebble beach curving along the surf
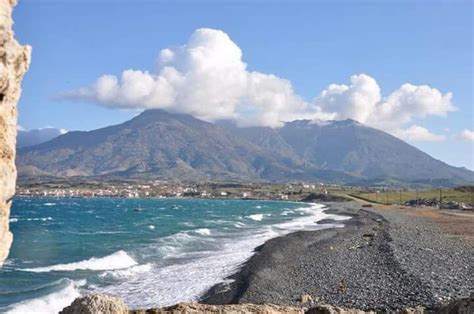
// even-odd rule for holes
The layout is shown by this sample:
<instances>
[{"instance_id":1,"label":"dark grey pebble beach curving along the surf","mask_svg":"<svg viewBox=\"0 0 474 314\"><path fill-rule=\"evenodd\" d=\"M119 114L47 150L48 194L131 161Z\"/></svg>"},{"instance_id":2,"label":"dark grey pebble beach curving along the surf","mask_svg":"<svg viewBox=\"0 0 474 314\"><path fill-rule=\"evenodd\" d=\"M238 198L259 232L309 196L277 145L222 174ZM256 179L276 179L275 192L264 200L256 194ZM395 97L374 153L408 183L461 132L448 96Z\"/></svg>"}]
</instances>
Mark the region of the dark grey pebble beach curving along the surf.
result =
<instances>
[{"instance_id":1,"label":"dark grey pebble beach curving along the surf","mask_svg":"<svg viewBox=\"0 0 474 314\"><path fill-rule=\"evenodd\" d=\"M201 302L308 307L301 297L309 295L313 303L361 310L436 309L474 290L472 213L326 205L352 219L344 228L267 241L232 283L214 286Z\"/></svg>"}]
</instances>

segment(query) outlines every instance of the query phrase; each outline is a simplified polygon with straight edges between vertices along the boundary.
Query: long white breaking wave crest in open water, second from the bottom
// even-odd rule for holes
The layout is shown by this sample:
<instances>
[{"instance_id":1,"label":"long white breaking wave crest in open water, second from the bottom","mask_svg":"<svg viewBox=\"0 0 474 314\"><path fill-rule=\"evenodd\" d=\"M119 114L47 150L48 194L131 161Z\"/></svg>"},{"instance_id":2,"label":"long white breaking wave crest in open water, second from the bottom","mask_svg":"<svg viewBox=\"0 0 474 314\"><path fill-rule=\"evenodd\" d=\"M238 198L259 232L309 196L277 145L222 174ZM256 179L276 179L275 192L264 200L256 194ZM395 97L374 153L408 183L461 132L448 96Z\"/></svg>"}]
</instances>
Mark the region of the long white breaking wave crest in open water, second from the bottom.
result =
<instances>
[{"instance_id":1,"label":"long white breaking wave crest in open water, second from the bottom","mask_svg":"<svg viewBox=\"0 0 474 314\"><path fill-rule=\"evenodd\" d=\"M22 271L44 273L50 271L75 271L75 270L114 270L135 266L138 263L130 257L125 251L117 251L105 257L92 257L88 260L58 264L47 267L25 268Z\"/></svg>"}]
</instances>

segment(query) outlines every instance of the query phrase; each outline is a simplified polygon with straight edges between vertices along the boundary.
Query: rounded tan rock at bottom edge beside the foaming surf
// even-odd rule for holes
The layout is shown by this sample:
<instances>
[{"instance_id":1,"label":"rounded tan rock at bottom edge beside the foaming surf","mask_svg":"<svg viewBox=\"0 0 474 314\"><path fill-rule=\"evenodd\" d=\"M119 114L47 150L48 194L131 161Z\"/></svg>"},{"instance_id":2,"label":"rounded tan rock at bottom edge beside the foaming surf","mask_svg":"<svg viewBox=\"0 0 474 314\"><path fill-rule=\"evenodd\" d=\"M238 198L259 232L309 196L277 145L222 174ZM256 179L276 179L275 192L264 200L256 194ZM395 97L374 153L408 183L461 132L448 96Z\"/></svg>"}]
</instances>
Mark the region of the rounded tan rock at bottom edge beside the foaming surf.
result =
<instances>
[{"instance_id":1,"label":"rounded tan rock at bottom edge beside the foaming surf","mask_svg":"<svg viewBox=\"0 0 474 314\"><path fill-rule=\"evenodd\" d=\"M60 314L128 314L122 299L106 294L90 294L74 300Z\"/></svg>"}]
</instances>

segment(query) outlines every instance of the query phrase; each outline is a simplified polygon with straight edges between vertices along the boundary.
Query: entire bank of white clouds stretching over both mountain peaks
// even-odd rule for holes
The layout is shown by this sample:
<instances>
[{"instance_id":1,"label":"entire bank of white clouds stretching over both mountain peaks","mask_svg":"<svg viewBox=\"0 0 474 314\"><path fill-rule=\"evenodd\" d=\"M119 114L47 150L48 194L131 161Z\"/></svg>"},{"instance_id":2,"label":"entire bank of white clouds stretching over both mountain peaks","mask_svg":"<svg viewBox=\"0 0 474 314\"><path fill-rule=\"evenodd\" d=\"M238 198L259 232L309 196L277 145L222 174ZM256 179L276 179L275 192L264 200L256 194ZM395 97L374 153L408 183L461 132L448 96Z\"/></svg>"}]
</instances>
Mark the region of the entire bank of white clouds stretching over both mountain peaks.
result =
<instances>
[{"instance_id":1,"label":"entire bank of white clouds stretching over both mountain peaks","mask_svg":"<svg viewBox=\"0 0 474 314\"><path fill-rule=\"evenodd\" d=\"M104 75L61 98L114 108L162 108L208 121L234 119L239 125L352 118L393 134L415 118L456 110L451 93L426 85L407 83L384 98L377 81L366 74L352 76L350 85L331 84L313 102L305 101L290 81L248 71L241 49L214 29L198 29L186 45L161 50L157 63L156 72L128 69L120 77ZM417 128L404 134L420 132Z\"/></svg>"}]
</instances>

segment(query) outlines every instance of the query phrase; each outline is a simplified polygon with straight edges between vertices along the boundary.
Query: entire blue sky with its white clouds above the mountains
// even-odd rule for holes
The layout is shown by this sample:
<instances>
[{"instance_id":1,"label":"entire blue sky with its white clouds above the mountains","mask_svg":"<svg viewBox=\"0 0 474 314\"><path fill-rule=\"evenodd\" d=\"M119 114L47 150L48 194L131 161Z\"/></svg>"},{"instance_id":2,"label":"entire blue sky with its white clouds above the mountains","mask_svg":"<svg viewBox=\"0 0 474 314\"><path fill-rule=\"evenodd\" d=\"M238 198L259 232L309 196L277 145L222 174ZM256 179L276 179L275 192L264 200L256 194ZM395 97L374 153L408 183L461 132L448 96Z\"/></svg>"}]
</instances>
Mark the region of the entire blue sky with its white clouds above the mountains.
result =
<instances>
[{"instance_id":1,"label":"entire blue sky with its white clouds above the mountains","mask_svg":"<svg viewBox=\"0 0 474 314\"><path fill-rule=\"evenodd\" d=\"M471 1L20 0L19 124L351 118L474 169Z\"/></svg>"}]
</instances>

